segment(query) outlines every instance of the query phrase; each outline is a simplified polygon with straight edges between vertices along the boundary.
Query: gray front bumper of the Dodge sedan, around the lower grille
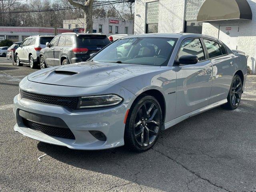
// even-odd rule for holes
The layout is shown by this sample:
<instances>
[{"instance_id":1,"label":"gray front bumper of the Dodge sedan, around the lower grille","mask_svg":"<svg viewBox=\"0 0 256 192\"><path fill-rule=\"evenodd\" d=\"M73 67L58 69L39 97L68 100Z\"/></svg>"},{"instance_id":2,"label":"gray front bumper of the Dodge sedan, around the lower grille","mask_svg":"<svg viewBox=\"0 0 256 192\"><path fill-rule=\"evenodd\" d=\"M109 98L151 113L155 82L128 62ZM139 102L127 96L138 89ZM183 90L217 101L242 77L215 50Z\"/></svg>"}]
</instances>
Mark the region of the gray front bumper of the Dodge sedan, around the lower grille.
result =
<instances>
[{"instance_id":1,"label":"gray front bumper of the Dodge sedan, around the lower grille","mask_svg":"<svg viewBox=\"0 0 256 192\"><path fill-rule=\"evenodd\" d=\"M50 86L50 85L49 85ZM17 123L14 130L24 136L60 146L66 146L78 150L101 150L124 145L124 117L131 101L135 96L128 90L123 89L126 98L122 104L114 108L100 110L73 110L70 111L62 106L44 104L20 98L20 94L14 97L14 114ZM24 125L19 115L19 110L61 118L72 131L75 139L50 136L40 131L30 129ZM40 123L40 122L39 122ZM96 139L89 130L100 131L106 136L106 141Z\"/></svg>"}]
</instances>

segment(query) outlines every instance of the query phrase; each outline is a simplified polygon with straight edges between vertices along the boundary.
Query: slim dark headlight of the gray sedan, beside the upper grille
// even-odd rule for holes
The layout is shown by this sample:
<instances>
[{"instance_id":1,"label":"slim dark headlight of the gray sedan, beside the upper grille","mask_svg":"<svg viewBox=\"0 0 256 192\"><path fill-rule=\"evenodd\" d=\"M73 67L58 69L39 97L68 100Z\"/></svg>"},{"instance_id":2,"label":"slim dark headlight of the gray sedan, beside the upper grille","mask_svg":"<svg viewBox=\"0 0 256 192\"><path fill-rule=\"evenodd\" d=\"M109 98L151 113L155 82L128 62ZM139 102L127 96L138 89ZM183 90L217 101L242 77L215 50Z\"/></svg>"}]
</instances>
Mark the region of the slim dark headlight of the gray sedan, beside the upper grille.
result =
<instances>
[{"instance_id":1,"label":"slim dark headlight of the gray sedan, beside the upper grille","mask_svg":"<svg viewBox=\"0 0 256 192\"><path fill-rule=\"evenodd\" d=\"M122 102L122 100L123 99L121 97L114 94L80 97L77 108L83 109L109 107L119 104L120 102Z\"/></svg>"}]
</instances>

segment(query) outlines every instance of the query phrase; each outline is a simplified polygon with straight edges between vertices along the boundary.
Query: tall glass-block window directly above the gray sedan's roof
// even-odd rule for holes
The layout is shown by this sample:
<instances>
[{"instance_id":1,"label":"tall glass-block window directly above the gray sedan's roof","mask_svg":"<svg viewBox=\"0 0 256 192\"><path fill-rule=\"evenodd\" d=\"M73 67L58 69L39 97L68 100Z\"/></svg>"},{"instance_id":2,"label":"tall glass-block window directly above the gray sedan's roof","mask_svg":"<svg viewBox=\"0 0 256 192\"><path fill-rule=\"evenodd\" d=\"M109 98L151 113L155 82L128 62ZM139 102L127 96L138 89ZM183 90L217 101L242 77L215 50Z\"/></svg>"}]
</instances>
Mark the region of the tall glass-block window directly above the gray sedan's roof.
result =
<instances>
[{"instance_id":1,"label":"tall glass-block window directly above the gray sedan's roof","mask_svg":"<svg viewBox=\"0 0 256 192\"><path fill-rule=\"evenodd\" d=\"M158 32L159 1L146 4L146 33Z\"/></svg>"}]
</instances>

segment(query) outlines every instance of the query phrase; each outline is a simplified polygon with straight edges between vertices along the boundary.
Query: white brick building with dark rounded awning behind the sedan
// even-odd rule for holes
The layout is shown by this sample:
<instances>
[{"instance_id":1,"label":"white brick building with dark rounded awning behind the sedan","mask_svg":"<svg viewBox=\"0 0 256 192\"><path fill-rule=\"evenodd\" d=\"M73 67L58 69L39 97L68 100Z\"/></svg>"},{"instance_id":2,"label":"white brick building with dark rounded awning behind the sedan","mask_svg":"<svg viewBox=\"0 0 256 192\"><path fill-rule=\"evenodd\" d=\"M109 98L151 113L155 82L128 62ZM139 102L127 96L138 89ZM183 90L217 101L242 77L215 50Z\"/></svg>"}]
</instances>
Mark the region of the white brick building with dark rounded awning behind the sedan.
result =
<instances>
[{"instance_id":1,"label":"white brick building with dark rounded awning behind the sedan","mask_svg":"<svg viewBox=\"0 0 256 192\"><path fill-rule=\"evenodd\" d=\"M256 73L256 0L136 0L134 34L150 32L214 36L245 52Z\"/></svg>"}]
</instances>

